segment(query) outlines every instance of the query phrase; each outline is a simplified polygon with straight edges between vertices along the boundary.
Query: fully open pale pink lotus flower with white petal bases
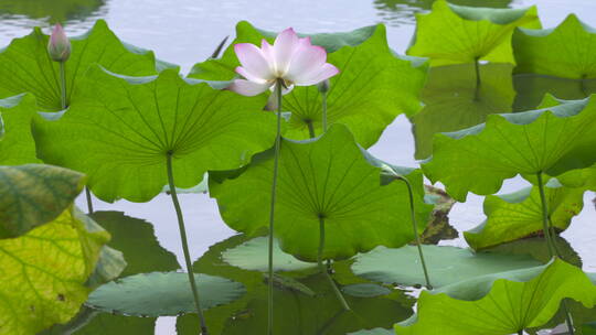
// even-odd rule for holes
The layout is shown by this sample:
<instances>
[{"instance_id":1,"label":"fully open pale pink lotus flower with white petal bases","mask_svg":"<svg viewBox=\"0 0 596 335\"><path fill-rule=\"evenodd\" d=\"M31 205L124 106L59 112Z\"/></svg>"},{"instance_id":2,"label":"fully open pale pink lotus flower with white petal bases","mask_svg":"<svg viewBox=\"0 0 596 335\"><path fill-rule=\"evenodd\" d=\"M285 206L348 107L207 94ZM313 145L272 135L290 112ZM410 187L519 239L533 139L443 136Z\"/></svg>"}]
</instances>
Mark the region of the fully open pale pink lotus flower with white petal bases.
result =
<instances>
[{"instance_id":1,"label":"fully open pale pink lotus flower with white petal bases","mask_svg":"<svg viewBox=\"0 0 596 335\"><path fill-rule=\"evenodd\" d=\"M228 89L244 96L256 96L272 88L278 79L284 82L284 94L294 85L310 86L339 73L327 63L327 52L312 45L310 37L299 39L291 28L275 39L274 45L260 42L260 48L251 43L238 43L234 51L242 64L236 73L246 79L235 79Z\"/></svg>"}]
</instances>

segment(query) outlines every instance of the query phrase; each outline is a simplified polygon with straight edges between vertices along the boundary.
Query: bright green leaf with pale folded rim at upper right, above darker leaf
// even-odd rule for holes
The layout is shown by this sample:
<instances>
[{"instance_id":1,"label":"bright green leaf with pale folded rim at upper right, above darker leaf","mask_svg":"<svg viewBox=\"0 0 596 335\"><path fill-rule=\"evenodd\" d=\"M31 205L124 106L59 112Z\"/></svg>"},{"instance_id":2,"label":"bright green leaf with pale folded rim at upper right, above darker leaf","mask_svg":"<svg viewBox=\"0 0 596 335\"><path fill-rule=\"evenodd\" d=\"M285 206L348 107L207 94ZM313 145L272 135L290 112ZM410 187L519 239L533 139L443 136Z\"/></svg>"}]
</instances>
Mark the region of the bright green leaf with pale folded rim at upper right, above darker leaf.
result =
<instances>
[{"instance_id":1,"label":"bright green leaf with pale folded rim at upper right, above darker leaf","mask_svg":"<svg viewBox=\"0 0 596 335\"><path fill-rule=\"evenodd\" d=\"M428 57L432 66L476 63L515 64L511 36L517 26L540 29L535 7L521 9L471 8L433 3L433 11L416 14L416 35L408 55Z\"/></svg>"}]
</instances>

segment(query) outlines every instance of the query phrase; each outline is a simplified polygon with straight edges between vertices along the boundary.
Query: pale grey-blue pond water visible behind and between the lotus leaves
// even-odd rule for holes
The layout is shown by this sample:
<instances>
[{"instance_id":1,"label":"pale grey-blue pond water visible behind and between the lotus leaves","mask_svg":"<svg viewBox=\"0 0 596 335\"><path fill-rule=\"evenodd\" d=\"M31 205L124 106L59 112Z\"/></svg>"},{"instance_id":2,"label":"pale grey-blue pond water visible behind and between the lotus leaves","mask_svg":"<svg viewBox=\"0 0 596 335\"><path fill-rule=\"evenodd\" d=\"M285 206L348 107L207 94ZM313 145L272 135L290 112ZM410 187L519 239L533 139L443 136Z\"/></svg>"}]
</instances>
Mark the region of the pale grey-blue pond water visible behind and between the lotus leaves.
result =
<instances>
[{"instance_id":1,"label":"pale grey-blue pond water visible behind and between the lotus leaves","mask_svg":"<svg viewBox=\"0 0 596 335\"><path fill-rule=\"evenodd\" d=\"M596 1L593 0L458 0L457 4L519 8L538 4L545 28L558 24L575 12L588 24L596 25ZM25 35L32 26L50 26L56 20L66 23L68 34L79 34L95 20L106 19L116 34L131 44L153 50L157 56L181 65L187 73L191 66L211 55L226 35L233 39L234 25L247 20L256 26L278 31L292 26L299 32L350 31L379 22L387 25L392 48L404 53L414 33L415 13L429 10L433 0L2 0L0 1L0 44ZM504 110L507 111L507 110ZM376 156L398 165L414 166L416 160L411 122L398 117L371 149ZM501 193L519 190L525 182L508 181ZM193 259L209 246L234 234L220 218L217 206L207 195L181 195ZM585 207L563 236L584 260L584 270L596 271L596 224L592 199L586 193ZM83 198L78 205L86 208ZM170 198L158 196L150 203L126 201L105 204L95 201L96 210L121 210L150 221L162 247L172 251L183 263L182 249ZM483 220L482 197L470 195L465 204L457 204L450 223L458 230L469 229ZM587 231L587 233L586 233ZM461 239L446 244L462 246ZM173 317L161 317L157 334L174 334Z\"/></svg>"}]
</instances>

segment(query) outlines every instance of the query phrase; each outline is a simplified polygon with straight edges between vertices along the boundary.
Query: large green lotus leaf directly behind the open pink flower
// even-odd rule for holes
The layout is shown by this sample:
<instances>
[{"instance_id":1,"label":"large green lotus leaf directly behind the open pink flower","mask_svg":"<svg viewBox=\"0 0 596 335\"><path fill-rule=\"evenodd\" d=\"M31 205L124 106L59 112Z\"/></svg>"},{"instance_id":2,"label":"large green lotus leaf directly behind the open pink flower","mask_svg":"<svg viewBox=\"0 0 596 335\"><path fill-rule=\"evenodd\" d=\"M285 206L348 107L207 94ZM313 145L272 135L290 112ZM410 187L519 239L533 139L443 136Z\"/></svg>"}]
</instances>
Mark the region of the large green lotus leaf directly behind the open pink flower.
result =
<instances>
[{"instance_id":1,"label":"large green lotus leaf directly behind the open pink flower","mask_svg":"<svg viewBox=\"0 0 596 335\"><path fill-rule=\"evenodd\" d=\"M247 22L238 23L236 30L238 37L233 44L260 44L262 39L273 41L275 37L275 34L264 33ZM329 79L329 125L348 126L356 141L369 148L400 114L413 115L421 109L418 94L426 78L425 63L395 56L387 45L384 25L310 36L313 44L327 46L332 52L327 61L340 69L339 75ZM221 60L195 65L190 76L228 80L236 76L234 68L238 65L233 46L230 46ZM315 133L322 132L321 99L317 86L295 87L284 96L283 108L291 111L286 138L309 139L309 125Z\"/></svg>"}]
</instances>

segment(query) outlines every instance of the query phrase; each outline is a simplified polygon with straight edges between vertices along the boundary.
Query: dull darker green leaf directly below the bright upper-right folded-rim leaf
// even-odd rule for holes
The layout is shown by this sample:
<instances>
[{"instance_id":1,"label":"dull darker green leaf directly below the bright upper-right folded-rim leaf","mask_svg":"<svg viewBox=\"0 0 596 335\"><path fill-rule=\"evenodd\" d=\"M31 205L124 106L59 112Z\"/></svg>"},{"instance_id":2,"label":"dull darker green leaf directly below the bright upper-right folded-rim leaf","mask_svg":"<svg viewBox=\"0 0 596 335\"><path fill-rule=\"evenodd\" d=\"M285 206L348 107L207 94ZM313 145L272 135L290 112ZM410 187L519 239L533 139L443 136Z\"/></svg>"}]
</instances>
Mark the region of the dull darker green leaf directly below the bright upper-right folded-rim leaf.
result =
<instances>
[{"instance_id":1,"label":"dull darker green leaf directly below the bright upper-right folded-rim leaf","mask_svg":"<svg viewBox=\"0 0 596 335\"><path fill-rule=\"evenodd\" d=\"M416 159L432 155L435 133L469 128L485 122L490 114L511 111L512 68L511 64L481 65L482 83L477 87L472 64L432 67L422 90L425 106L411 118Z\"/></svg>"}]
</instances>

